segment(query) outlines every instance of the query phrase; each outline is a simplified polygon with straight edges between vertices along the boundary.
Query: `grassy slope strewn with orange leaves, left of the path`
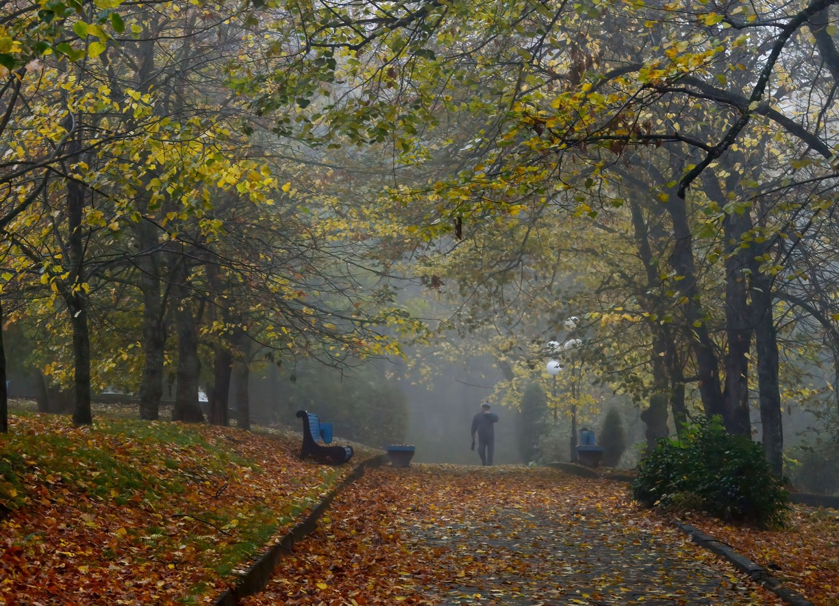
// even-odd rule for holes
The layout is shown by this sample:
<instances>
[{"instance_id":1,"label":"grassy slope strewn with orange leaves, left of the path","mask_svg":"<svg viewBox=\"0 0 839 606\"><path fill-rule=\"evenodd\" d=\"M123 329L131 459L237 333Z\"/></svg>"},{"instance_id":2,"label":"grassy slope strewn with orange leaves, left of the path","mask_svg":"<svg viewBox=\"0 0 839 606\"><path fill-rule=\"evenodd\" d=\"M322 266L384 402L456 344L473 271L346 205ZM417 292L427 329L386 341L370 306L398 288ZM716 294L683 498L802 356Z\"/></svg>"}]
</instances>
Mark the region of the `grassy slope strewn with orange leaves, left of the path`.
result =
<instances>
[{"instance_id":1,"label":"grassy slope strewn with orange leaves, left of the path","mask_svg":"<svg viewBox=\"0 0 839 606\"><path fill-rule=\"evenodd\" d=\"M13 415L0 435L0 604L211 602L352 471L301 462L299 448L292 428ZM353 462L374 454L357 448Z\"/></svg>"}]
</instances>

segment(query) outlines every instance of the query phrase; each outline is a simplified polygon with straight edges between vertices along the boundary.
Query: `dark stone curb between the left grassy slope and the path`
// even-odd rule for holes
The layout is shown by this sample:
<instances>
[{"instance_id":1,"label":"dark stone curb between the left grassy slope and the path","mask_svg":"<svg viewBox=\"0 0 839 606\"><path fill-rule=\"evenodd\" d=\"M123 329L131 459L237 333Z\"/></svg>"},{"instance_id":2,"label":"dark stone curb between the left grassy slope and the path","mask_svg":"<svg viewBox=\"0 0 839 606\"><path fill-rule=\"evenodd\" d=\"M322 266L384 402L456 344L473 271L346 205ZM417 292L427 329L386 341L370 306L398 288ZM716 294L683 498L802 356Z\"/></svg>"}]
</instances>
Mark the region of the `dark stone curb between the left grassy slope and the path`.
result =
<instances>
[{"instance_id":1,"label":"dark stone curb between the left grassy slope and the path","mask_svg":"<svg viewBox=\"0 0 839 606\"><path fill-rule=\"evenodd\" d=\"M360 462L347 478L341 480L323 499L320 499L320 502L315 505L304 520L294 525L282 539L268 547L268 550L262 556L259 556L256 562L253 562L253 565L246 572L237 578L233 588L221 593L213 603L214 606L237 606L241 598L261 592L274 575L274 568L277 567L280 558L290 554L294 543L299 543L306 535L309 535L315 530L317 520L321 515L324 515L326 509L329 508L336 496L341 494L344 488L347 488L350 483L361 478L364 475L365 469L381 466L387 461L387 457L387 453L384 453Z\"/></svg>"}]
</instances>

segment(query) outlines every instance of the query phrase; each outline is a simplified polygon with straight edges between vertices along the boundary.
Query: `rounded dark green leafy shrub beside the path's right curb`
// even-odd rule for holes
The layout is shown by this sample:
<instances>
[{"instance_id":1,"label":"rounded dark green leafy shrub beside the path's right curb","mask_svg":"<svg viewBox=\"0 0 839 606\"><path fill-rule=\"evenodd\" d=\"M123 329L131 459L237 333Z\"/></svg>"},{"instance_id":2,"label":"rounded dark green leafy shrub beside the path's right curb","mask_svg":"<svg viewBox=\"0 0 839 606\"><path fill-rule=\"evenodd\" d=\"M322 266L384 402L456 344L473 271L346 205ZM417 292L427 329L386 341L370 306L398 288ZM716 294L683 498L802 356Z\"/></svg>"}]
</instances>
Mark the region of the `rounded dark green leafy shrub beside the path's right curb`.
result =
<instances>
[{"instance_id":1,"label":"rounded dark green leafy shrub beside the path's right curb","mask_svg":"<svg viewBox=\"0 0 839 606\"><path fill-rule=\"evenodd\" d=\"M664 439L638 464L633 498L648 507L690 504L722 520L784 525L789 494L769 470L763 449L729 436L718 420L691 426L680 439Z\"/></svg>"}]
</instances>

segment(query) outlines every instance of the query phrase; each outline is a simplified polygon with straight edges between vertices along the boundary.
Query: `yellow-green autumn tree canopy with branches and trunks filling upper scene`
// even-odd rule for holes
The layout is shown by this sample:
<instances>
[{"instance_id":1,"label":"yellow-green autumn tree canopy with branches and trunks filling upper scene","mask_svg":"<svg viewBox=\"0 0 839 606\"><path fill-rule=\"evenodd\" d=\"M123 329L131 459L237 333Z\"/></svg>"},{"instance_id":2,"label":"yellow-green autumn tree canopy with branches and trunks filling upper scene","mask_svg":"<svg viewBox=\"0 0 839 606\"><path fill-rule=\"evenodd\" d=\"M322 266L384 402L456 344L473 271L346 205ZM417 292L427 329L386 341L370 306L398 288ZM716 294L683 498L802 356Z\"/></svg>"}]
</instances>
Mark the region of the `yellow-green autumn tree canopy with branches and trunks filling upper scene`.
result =
<instances>
[{"instance_id":1,"label":"yellow-green autumn tree canopy with branches and trunks filling upper scene","mask_svg":"<svg viewBox=\"0 0 839 606\"><path fill-rule=\"evenodd\" d=\"M839 372L835 4L26 5L4 331L81 424L117 381L156 418L167 373L226 423L237 364L452 327L514 403L579 339L574 406L630 394L650 445L720 415L780 472L782 408Z\"/></svg>"}]
</instances>

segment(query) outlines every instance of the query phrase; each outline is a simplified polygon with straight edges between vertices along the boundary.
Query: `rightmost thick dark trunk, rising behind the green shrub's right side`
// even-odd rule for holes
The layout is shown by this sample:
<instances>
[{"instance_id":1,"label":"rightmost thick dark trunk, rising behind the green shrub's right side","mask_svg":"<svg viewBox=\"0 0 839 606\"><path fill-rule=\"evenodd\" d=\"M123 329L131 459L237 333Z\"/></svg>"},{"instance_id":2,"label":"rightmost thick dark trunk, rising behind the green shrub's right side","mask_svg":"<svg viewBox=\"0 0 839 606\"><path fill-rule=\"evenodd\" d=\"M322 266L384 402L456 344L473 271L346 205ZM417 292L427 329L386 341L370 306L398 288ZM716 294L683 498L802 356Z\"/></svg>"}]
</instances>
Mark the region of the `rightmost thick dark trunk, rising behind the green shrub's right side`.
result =
<instances>
[{"instance_id":1,"label":"rightmost thick dark trunk, rising behind the green shrub's right side","mask_svg":"<svg viewBox=\"0 0 839 606\"><path fill-rule=\"evenodd\" d=\"M757 265L757 263L755 263ZM778 340L772 311L772 279L755 268L752 279L753 316L758 350L758 400L763 426L763 453L779 478L784 476L784 419L778 381Z\"/></svg>"}]
</instances>

